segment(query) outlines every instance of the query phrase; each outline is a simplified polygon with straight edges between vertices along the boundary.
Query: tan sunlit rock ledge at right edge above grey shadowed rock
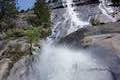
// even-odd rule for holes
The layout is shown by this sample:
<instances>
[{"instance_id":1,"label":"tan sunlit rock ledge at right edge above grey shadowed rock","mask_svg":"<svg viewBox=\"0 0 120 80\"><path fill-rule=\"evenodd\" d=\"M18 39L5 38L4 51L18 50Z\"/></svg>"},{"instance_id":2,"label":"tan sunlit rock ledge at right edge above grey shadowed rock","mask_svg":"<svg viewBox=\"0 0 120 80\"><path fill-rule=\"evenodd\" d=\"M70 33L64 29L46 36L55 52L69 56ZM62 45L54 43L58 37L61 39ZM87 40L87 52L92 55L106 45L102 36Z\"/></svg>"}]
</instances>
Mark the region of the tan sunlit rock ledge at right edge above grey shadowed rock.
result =
<instances>
[{"instance_id":1,"label":"tan sunlit rock ledge at right edge above grey shadowed rock","mask_svg":"<svg viewBox=\"0 0 120 80\"><path fill-rule=\"evenodd\" d=\"M96 45L117 52L120 57L120 33L102 34L84 38L87 46Z\"/></svg>"}]
</instances>

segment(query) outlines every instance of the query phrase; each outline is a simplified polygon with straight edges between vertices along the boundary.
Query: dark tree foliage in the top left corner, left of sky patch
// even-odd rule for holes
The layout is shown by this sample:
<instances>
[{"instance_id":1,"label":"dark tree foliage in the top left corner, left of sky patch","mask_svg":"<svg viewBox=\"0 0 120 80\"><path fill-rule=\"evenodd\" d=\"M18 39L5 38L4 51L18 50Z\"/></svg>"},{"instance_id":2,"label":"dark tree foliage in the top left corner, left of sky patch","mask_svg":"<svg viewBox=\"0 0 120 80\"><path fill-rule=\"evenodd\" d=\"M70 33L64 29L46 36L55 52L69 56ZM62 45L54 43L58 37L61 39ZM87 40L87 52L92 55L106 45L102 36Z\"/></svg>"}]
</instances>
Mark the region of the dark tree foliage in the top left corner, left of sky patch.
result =
<instances>
[{"instance_id":1,"label":"dark tree foliage in the top left corner, left of sky patch","mask_svg":"<svg viewBox=\"0 0 120 80\"><path fill-rule=\"evenodd\" d=\"M14 19L16 18L17 10L15 0L1 0L0 6L0 32L4 32L15 26Z\"/></svg>"}]
</instances>

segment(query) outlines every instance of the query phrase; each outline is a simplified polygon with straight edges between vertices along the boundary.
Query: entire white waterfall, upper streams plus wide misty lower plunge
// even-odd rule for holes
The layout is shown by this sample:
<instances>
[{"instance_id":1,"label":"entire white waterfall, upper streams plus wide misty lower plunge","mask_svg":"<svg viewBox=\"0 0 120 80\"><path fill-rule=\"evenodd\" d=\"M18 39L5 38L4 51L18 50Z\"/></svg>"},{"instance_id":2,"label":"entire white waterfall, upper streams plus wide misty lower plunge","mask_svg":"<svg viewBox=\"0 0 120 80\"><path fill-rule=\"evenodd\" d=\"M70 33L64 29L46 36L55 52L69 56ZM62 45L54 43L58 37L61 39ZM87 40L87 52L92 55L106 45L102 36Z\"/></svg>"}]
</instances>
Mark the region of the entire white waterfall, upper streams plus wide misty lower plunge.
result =
<instances>
[{"instance_id":1,"label":"entire white waterfall, upper streams plus wide misty lower plunge","mask_svg":"<svg viewBox=\"0 0 120 80\"><path fill-rule=\"evenodd\" d=\"M74 11L75 7L72 6L74 4L73 0L62 1L63 5L67 5L64 14L66 17L63 23L66 23L68 19L71 22L67 34L89 25L88 21L83 21L77 16L77 12ZM100 3L99 8L107 17L115 21L106 13L105 10L108 11L108 8L103 3ZM59 24L60 22L56 25ZM59 29L55 37L62 34ZM63 46L52 46L51 41L54 43L54 40L50 40L48 44L44 44L42 50L37 52L39 54L34 57L34 61L27 64L25 62L21 64L22 67L15 65L17 68L11 70L8 80L114 80L106 64L112 63L112 60L107 60L110 56L100 51L93 54L88 51L76 51ZM100 61L103 57L105 60Z\"/></svg>"}]
</instances>

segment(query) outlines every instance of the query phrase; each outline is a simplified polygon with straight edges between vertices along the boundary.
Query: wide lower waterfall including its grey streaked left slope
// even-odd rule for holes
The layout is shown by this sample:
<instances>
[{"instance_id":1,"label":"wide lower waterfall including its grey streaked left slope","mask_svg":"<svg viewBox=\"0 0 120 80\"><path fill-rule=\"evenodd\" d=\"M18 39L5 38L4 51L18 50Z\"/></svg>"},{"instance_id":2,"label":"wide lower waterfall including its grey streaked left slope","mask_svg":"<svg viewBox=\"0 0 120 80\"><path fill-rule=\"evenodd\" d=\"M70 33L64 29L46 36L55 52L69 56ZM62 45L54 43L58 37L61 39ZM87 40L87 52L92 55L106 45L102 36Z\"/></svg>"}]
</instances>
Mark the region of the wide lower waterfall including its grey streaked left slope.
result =
<instances>
[{"instance_id":1,"label":"wide lower waterfall including its grey streaked left slope","mask_svg":"<svg viewBox=\"0 0 120 80\"><path fill-rule=\"evenodd\" d=\"M8 80L112 80L107 67L91 54L63 46L45 44L32 63L16 66Z\"/></svg>"}]
</instances>

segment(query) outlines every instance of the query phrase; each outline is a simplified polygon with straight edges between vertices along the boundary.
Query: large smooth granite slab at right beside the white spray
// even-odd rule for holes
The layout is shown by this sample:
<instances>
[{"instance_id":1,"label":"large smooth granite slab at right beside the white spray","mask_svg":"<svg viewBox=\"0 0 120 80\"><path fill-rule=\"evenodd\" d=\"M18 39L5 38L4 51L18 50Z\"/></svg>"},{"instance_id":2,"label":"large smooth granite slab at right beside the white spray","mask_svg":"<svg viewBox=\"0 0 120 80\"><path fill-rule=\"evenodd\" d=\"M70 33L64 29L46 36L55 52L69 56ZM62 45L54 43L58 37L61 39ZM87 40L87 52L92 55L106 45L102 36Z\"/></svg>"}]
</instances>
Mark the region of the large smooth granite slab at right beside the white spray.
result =
<instances>
[{"instance_id":1,"label":"large smooth granite slab at right beside the white spray","mask_svg":"<svg viewBox=\"0 0 120 80\"><path fill-rule=\"evenodd\" d=\"M69 47L71 47L70 45L77 49L83 47L84 50L88 51L87 54L91 55L98 62L99 67L94 68L93 71L85 72L85 74L88 74L86 76L89 76L89 73L94 74L95 72L103 80L120 79L119 25L119 22L97 25L93 26L91 31L89 31L90 29L80 29L64 37L63 41L69 44ZM99 80L99 78L95 80Z\"/></svg>"}]
</instances>

